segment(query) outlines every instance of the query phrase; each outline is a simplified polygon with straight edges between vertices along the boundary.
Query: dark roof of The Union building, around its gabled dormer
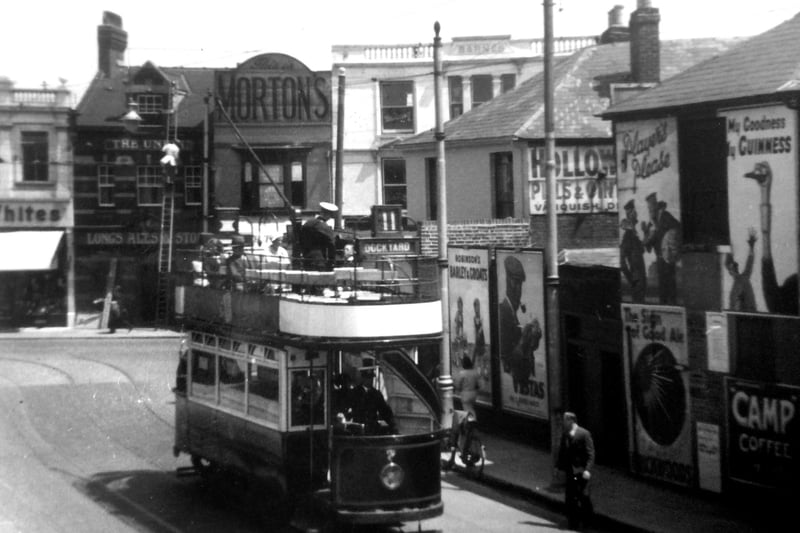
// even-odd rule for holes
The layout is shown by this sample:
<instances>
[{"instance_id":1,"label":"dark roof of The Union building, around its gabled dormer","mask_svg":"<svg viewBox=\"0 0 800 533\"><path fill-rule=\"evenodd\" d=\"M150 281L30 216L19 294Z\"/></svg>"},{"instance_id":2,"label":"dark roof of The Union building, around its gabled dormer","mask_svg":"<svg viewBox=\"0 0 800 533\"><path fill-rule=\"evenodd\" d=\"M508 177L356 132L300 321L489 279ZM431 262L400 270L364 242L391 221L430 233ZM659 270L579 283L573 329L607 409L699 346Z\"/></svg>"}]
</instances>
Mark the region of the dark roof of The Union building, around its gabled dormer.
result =
<instances>
[{"instance_id":1,"label":"dark roof of The Union building, around its gabled dormer","mask_svg":"<svg viewBox=\"0 0 800 533\"><path fill-rule=\"evenodd\" d=\"M148 73L162 76L167 83L174 82L177 91L186 93L176 114L179 127L197 126L203 122L204 98L208 90L213 89L214 69L157 67L148 61L110 78L101 74L95 76L76 108L77 125L119 126L118 119L127 110L126 94L130 83L135 83L140 74Z\"/></svg>"}]
</instances>

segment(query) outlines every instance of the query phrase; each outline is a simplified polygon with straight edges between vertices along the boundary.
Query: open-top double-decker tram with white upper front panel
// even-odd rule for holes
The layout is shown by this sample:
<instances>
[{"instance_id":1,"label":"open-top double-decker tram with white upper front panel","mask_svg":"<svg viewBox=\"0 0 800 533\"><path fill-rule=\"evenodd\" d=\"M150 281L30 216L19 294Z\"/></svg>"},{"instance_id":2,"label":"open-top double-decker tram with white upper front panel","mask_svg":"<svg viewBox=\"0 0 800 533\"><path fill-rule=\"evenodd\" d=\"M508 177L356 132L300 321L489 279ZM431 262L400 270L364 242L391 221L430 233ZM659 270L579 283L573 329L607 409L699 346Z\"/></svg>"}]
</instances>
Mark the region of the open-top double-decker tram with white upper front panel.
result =
<instances>
[{"instance_id":1,"label":"open-top double-decker tram with white upper front panel","mask_svg":"<svg viewBox=\"0 0 800 533\"><path fill-rule=\"evenodd\" d=\"M243 279L177 276L176 456L246 476L273 508L310 496L345 523L440 515L439 398L417 365L442 335L436 258L245 259Z\"/></svg>"}]
</instances>

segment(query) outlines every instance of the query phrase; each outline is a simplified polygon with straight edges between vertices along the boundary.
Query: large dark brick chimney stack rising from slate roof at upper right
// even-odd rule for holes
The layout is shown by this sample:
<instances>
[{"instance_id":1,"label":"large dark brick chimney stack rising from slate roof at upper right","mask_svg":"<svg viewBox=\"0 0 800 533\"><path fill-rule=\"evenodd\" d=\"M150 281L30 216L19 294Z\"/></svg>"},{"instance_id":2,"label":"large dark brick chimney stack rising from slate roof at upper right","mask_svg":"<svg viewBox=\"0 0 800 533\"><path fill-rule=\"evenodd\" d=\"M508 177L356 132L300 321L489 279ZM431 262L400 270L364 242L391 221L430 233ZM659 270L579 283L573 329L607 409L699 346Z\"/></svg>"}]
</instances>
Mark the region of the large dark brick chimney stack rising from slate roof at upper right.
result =
<instances>
[{"instance_id":1,"label":"large dark brick chimney stack rising from slate roof at upper right","mask_svg":"<svg viewBox=\"0 0 800 533\"><path fill-rule=\"evenodd\" d=\"M658 83L661 79L661 51L658 23L661 15L650 0L637 0L631 13L631 76L636 83Z\"/></svg>"}]
</instances>

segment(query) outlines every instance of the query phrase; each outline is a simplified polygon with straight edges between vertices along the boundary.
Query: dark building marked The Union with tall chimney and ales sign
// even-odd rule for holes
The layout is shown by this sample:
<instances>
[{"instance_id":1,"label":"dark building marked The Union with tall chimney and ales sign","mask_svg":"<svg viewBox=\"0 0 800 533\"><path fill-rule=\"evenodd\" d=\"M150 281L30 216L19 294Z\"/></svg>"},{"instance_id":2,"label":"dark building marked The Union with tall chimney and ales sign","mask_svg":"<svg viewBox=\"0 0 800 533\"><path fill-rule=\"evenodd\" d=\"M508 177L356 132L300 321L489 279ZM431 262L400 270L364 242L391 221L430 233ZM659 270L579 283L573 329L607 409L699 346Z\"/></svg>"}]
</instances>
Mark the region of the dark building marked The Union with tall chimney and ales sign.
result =
<instances>
[{"instance_id":1,"label":"dark building marked The Union with tall chimney and ales sign","mask_svg":"<svg viewBox=\"0 0 800 533\"><path fill-rule=\"evenodd\" d=\"M73 126L76 300L79 310L96 311L94 300L119 287L131 320L147 323L155 318L165 221L173 256L199 246L208 225L205 118L213 72L150 62L124 67L127 33L113 13L103 15L98 46L98 74ZM132 124L129 113L140 120ZM179 147L174 176L162 164L168 141Z\"/></svg>"}]
</instances>

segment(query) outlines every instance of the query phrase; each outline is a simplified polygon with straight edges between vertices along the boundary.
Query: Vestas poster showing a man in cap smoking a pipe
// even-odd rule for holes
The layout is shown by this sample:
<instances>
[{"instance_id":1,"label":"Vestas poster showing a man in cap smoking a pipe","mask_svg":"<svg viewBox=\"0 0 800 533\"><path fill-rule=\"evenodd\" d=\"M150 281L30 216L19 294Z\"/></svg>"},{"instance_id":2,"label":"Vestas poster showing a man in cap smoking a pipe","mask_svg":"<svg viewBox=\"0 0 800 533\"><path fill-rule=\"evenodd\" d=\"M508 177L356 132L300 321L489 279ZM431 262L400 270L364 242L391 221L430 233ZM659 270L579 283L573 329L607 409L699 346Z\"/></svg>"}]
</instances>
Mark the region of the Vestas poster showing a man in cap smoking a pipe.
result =
<instances>
[{"instance_id":1,"label":"Vestas poster showing a man in cap smoking a pipe","mask_svg":"<svg viewBox=\"0 0 800 533\"><path fill-rule=\"evenodd\" d=\"M547 420L544 254L497 250L496 261L502 407Z\"/></svg>"}]
</instances>

